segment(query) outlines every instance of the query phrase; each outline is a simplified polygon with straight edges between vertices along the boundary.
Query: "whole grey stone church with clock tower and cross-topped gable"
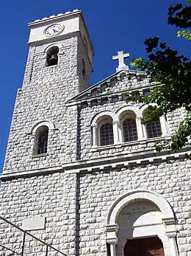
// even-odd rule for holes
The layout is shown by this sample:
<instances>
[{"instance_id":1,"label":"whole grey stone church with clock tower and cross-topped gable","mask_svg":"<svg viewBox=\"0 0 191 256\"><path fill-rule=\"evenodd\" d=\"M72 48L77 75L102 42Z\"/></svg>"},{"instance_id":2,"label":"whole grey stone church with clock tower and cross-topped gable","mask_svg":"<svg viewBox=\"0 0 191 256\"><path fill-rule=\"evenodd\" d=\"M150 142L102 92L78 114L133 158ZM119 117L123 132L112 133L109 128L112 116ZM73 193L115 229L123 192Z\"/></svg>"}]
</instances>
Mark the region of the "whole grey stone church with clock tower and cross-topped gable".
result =
<instances>
[{"instance_id":1,"label":"whole grey stone church with clock tower and cross-topped gable","mask_svg":"<svg viewBox=\"0 0 191 256\"><path fill-rule=\"evenodd\" d=\"M190 148L154 150L184 112L143 125L145 72L90 86L80 10L29 23L29 55L0 175L0 255L191 256Z\"/></svg>"}]
</instances>

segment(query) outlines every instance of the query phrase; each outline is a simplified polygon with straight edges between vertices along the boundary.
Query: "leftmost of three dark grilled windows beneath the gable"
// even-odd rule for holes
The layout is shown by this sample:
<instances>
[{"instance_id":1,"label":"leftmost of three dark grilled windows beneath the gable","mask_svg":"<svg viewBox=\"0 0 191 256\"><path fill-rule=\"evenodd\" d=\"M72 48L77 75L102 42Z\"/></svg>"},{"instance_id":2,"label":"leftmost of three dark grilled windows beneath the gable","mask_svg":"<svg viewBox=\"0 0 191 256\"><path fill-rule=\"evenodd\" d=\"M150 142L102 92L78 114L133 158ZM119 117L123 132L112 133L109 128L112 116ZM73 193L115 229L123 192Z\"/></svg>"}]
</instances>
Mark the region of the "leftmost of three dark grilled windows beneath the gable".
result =
<instances>
[{"instance_id":1,"label":"leftmost of three dark grilled windows beneath the gable","mask_svg":"<svg viewBox=\"0 0 191 256\"><path fill-rule=\"evenodd\" d=\"M100 128L100 145L111 145L114 143L112 123L104 123Z\"/></svg>"}]
</instances>

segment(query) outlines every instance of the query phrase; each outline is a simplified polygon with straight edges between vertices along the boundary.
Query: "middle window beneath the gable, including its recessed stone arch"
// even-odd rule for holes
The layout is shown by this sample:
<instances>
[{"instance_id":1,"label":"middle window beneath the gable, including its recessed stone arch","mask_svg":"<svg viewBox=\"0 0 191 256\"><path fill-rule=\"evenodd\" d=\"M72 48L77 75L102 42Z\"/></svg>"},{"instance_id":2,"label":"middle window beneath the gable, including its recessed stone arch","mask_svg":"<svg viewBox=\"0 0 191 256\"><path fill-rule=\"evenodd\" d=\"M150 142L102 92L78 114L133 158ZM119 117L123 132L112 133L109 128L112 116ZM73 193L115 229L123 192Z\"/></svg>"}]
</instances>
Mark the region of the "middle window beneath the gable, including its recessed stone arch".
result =
<instances>
[{"instance_id":1,"label":"middle window beneath the gable, including its recessed stone arch","mask_svg":"<svg viewBox=\"0 0 191 256\"><path fill-rule=\"evenodd\" d=\"M120 125L123 142L132 142L138 139L136 114L134 111L123 111L120 114Z\"/></svg>"}]
</instances>

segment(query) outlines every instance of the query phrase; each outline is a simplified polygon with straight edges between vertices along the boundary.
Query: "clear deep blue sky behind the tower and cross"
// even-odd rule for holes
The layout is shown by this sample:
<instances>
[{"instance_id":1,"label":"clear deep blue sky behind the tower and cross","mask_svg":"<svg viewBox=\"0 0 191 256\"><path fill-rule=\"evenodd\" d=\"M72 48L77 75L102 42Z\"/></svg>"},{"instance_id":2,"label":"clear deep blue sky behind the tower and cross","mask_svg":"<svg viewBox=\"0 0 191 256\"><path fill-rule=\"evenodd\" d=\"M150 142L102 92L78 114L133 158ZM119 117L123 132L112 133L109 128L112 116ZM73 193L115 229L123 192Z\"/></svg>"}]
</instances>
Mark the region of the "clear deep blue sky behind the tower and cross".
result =
<instances>
[{"instance_id":1,"label":"clear deep blue sky behind the tower and cross","mask_svg":"<svg viewBox=\"0 0 191 256\"><path fill-rule=\"evenodd\" d=\"M57 13L80 9L95 48L92 84L115 72L118 51L145 57L143 41L157 35L169 46L190 55L189 43L176 38L176 29L167 25L167 7L180 0L7 0L1 1L0 16L0 172L15 103L22 86L28 48L27 23ZM184 1L184 0L182 0ZM129 60L126 62L129 63Z\"/></svg>"}]
</instances>

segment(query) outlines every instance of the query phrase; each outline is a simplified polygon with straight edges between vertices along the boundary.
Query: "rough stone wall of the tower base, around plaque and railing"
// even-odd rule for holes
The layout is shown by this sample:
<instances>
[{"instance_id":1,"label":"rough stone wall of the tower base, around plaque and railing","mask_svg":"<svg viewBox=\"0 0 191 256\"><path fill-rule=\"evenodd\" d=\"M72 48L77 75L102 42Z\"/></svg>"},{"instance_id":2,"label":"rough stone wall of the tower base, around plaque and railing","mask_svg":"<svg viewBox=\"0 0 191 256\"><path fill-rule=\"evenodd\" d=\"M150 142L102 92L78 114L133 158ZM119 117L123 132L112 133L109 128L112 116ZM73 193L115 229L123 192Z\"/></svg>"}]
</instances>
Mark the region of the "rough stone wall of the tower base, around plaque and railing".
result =
<instances>
[{"instance_id":1,"label":"rough stone wall of the tower base, around plaque and railing","mask_svg":"<svg viewBox=\"0 0 191 256\"><path fill-rule=\"evenodd\" d=\"M46 218L45 229L31 231L32 235L67 255L75 255L76 195L76 174L13 179L1 183L0 215L20 227L26 218ZM0 223L0 244L21 253L22 232L4 221ZM38 256L45 251L46 246L26 235L25 254ZM0 249L0 255L3 252ZM6 255L10 255L8 250Z\"/></svg>"}]
</instances>

